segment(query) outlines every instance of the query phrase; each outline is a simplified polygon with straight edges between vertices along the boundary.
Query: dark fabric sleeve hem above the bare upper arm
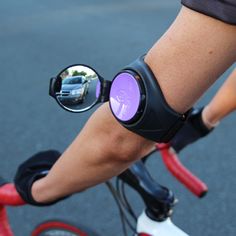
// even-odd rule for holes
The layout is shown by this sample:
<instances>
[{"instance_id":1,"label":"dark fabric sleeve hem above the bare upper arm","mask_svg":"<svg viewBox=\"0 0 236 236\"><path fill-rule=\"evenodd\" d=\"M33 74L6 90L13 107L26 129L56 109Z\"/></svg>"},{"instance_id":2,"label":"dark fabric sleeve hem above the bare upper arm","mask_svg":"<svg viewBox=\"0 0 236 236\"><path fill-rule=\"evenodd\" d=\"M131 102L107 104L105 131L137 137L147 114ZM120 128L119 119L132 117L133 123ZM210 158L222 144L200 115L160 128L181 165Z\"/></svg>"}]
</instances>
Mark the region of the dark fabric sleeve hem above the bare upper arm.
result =
<instances>
[{"instance_id":1,"label":"dark fabric sleeve hem above the bare upper arm","mask_svg":"<svg viewBox=\"0 0 236 236\"><path fill-rule=\"evenodd\" d=\"M181 3L194 11L236 25L236 0L181 0Z\"/></svg>"}]
</instances>

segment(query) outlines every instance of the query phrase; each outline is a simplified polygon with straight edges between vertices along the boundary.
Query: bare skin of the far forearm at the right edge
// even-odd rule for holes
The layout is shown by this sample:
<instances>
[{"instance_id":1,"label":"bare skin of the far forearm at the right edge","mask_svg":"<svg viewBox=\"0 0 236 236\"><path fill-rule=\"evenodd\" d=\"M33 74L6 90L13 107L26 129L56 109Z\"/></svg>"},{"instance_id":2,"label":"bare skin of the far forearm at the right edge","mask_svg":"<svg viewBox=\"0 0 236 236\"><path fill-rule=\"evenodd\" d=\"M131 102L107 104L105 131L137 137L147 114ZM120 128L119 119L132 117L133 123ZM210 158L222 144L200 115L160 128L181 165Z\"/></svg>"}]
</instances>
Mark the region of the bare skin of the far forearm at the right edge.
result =
<instances>
[{"instance_id":1,"label":"bare skin of the far forearm at the right edge","mask_svg":"<svg viewBox=\"0 0 236 236\"><path fill-rule=\"evenodd\" d=\"M212 128L225 116L236 110L236 69L218 90L210 103L202 111L202 119Z\"/></svg>"}]
</instances>

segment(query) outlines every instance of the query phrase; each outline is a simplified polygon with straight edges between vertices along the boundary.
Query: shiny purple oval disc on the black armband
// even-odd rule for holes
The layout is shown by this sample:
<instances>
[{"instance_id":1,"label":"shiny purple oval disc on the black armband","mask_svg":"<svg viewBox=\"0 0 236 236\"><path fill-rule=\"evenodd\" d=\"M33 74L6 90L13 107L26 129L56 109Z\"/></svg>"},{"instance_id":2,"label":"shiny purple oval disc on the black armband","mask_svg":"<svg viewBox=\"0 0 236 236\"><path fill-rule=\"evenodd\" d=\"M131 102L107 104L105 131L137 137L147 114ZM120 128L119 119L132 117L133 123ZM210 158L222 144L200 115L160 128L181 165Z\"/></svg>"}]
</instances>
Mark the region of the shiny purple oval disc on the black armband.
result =
<instances>
[{"instance_id":1,"label":"shiny purple oval disc on the black armband","mask_svg":"<svg viewBox=\"0 0 236 236\"><path fill-rule=\"evenodd\" d=\"M138 111L140 89L133 75L123 72L116 76L110 91L110 107L121 121L131 120Z\"/></svg>"}]
</instances>

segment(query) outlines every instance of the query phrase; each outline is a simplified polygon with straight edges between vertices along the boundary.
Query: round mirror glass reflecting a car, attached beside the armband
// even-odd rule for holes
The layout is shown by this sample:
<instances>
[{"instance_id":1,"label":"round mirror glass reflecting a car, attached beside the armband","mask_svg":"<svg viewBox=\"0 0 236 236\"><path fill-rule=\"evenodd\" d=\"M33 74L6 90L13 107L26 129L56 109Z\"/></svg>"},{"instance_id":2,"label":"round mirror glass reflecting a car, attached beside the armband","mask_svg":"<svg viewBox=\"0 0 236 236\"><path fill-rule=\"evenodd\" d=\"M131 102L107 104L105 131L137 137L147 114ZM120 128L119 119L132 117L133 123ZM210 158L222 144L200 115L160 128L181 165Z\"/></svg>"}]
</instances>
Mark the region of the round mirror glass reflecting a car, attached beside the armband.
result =
<instances>
[{"instance_id":1,"label":"round mirror glass reflecting a car, attached beside the armband","mask_svg":"<svg viewBox=\"0 0 236 236\"><path fill-rule=\"evenodd\" d=\"M99 75L85 65L67 67L57 76L56 99L65 109L83 112L98 102L101 81Z\"/></svg>"}]
</instances>

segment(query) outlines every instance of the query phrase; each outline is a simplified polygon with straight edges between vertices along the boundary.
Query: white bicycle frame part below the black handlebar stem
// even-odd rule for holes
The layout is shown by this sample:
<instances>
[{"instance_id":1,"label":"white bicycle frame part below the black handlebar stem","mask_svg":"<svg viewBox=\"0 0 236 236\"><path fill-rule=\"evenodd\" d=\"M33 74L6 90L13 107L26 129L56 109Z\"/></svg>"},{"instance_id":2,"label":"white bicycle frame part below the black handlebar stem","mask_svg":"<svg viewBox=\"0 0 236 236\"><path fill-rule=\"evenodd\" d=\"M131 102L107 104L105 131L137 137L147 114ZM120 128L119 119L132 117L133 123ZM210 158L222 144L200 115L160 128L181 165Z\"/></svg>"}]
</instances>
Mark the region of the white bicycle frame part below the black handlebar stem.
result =
<instances>
[{"instance_id":1,"label":"white bicycle frame part below the black handlebar stem","mask_svg":"<svg viewBox=\"0 0 236 236\"><path fill-rule=\"evenodd\" d=\"M151 236L189 236L174 225L170 218L157 222L151 220L145 212L138 218L137 233L150 234Z\"/></svg>"}]
</instances>

